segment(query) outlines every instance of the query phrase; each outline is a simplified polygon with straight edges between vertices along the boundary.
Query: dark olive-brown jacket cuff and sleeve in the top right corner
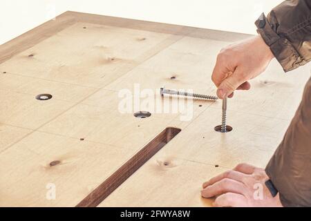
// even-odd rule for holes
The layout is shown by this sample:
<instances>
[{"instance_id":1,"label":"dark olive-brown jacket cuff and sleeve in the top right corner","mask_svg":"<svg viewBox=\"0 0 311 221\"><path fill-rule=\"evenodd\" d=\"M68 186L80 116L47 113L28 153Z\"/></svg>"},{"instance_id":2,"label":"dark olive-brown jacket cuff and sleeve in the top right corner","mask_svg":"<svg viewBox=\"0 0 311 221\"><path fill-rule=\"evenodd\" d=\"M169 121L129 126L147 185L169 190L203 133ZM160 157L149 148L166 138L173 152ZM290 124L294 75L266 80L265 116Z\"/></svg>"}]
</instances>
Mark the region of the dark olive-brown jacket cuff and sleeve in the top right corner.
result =
<instances>
[{"instance_id":1,"label":"dark olive-brown jacket cuff and sleeve in the top right corner","mask_svg":"<svg viewBox=\"0 0 311 221\"><path fill-rule=\"evenodd\" d=\"M311 60L311 1L288 0L255 22L285 72Z\"/></svg>"}]
</instances>

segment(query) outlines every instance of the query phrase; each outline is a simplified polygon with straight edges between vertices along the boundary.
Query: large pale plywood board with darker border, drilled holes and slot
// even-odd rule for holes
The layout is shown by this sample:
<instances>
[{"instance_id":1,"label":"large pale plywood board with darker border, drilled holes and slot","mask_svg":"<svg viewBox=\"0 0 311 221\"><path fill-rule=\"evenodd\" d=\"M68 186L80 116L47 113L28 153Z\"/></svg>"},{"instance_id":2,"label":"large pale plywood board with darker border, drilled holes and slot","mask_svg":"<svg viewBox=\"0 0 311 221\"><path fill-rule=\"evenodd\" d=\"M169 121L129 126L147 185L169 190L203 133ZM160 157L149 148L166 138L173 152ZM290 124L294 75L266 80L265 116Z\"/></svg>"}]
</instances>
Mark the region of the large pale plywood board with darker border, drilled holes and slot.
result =
<instances>
[{"instance_id":1,"label":"large pale plywood board with darker border, drilled holes and slot","mask_svg":"<svg viewBox=\"0 0 311 221\"><path fill-rule=\"evenodd\" d=\"M65 12L1 45L0 206L86 202L168 127L182 131L99 206L210 206L212 199L200 197L202 182L239 162L265 166L270 159L299 104L310 65L284 74L273 61L251 81L252 90L229 99L233 131L226 134L214 131L220 101L194 101L188 121L181 120L182 112L142 119L120 113L118 93L139 85L214 95L211 71L218 51L247 37ZM43 93L53 98L35 99ZM55 199L47 198L51 184Z\"/></svg>"}]
</instances>

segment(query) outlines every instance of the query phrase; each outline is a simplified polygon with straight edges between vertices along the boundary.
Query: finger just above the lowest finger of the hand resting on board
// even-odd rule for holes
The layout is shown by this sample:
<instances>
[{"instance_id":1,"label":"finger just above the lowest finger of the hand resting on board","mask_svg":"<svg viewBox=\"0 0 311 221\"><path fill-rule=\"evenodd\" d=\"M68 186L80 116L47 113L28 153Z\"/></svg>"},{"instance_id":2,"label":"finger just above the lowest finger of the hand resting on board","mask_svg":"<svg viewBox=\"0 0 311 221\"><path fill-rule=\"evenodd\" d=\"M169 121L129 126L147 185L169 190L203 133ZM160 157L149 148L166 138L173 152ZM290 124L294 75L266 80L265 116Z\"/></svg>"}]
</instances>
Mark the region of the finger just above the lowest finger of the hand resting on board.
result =
<instances>
[{"instance_id":1,"label":"finger just above the lowest finger of the hand resting on board","mask_svg":"<svg viewBox=\"0 0 311 221\"><path fill-rule=\"evenodd\" d=\"M220 195L223 193L241 193L245 192L245 185L236 180L231 180L225 178L216 182L210 186L207 186L205 189L202 189L201 195L203 198L212 198L215 195Z\"/></svg>"}]
</instances>

